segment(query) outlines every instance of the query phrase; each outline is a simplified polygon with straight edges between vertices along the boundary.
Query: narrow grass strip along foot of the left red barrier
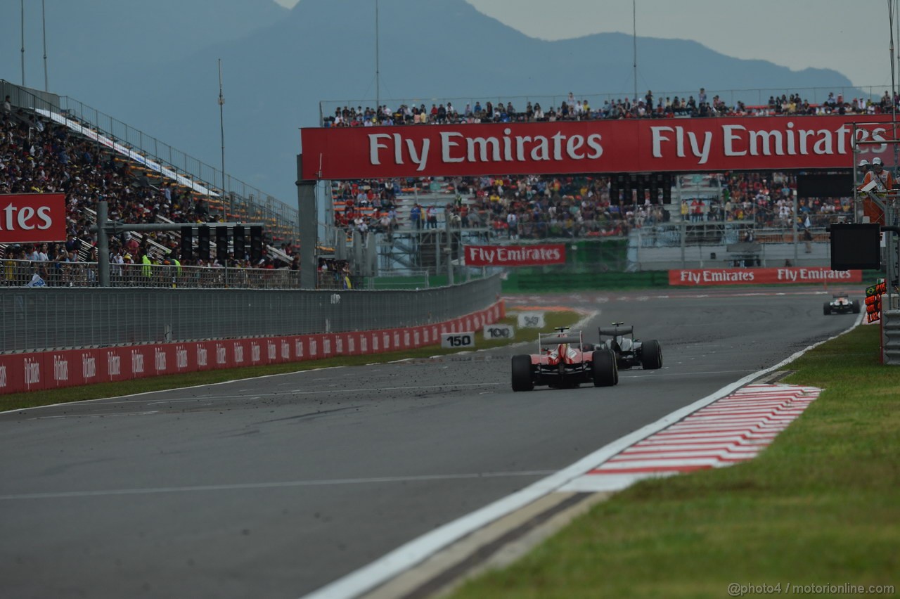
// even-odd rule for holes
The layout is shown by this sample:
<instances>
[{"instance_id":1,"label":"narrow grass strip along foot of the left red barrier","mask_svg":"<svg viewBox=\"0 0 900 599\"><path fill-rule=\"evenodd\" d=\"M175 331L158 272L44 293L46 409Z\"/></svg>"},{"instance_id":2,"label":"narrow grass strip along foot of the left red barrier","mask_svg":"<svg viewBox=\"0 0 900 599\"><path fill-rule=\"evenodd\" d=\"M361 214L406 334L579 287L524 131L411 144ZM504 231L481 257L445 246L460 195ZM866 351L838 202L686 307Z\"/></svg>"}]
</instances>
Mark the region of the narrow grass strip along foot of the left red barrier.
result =
<instances>
[{"instance_id":1,"label":"narrow grass strip along foot of the left red barrier","mask_svg":"<svg viewBox=\"0 0 900 599\"><path fill-rule=\"evenodd\" d=\"M515 312L510 310L512 316L500 320L501 324L515 325ZM554 326L569 326L577 322L581 314L576 312L547 312L545 314L545 328L541 332L550 332ZM514 344L520 341L528 341L537 338L538 329L518 329L517 336L512 340L496 339L485 341L482 332L475 333L474 350L491 349L502 345ZM50 406L71 401L85 399L113 398L146 391L158 391L163 389L179 389L193 387L195 385L208 385L224 380L248 379L270 374L284 372L310 371L317 368L334 366L358 366L374 362L392 362L404 358L428 358L433 355L445 355L447 353L460 353L460 349L442 349L440 344L426 345L416 349L402 350L390 353L372 353L368 355L342 356L326 360L312 360L308 362L290 362L284 364L271 364L266 366L248 366L245 368L232 368L228 370L188 372L185 374L173 374L163 377L150 377L147 379L122 380L118 382L99 383L82 387L69 387L65 389L50 389L45 391L32 391L30 393L11 393L0 396L0 412L5 410L20 409L23 407Z\"/></svg>"}]
</instances>

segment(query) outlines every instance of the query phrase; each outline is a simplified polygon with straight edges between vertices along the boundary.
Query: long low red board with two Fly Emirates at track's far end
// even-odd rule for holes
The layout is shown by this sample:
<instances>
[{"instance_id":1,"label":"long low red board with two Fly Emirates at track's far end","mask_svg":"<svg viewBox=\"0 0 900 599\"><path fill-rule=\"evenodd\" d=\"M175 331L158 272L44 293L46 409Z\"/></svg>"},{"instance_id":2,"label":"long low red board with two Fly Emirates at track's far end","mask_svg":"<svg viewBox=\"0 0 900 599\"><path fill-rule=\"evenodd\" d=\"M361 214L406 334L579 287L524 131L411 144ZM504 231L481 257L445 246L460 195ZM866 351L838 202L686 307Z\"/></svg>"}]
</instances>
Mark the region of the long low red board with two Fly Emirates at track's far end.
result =
<instances>
[{"instance_id":1,"label":"long low red board with two Fly Emirates at track's far end","mask_svg":"<svg viewBox=\"0 0 900 599\"><path fill-rule=\"evenodd\" d=\"M862 271L833 271L828 267L699 268L669 271L669 284L760 285L779 283L862 282Z\"/></svg>"}]
</instances>

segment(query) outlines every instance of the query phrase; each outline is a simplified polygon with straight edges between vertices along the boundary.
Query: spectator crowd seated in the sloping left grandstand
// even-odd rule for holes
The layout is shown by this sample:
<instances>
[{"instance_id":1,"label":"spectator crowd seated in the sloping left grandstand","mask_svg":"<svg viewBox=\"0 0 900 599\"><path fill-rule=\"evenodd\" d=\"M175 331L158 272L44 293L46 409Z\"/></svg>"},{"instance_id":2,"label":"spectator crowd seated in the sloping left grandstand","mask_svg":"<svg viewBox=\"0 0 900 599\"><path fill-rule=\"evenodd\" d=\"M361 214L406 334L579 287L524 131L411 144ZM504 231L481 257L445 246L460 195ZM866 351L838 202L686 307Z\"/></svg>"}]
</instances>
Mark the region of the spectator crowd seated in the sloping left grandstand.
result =
<instances>
[{"instance_id":1,"label":"spectator crowd seated in the sloping left grandstand","mask_svg":"<svg viewBox=\"0 0 900 599\"><path fill-rule=\"evenodd\" d=\"M91 231L94 219L90 210L96 210L98 201L107 202L109 219L132 224L158 223L163 219L185 224L224 220L223 210L212 210L209 198L160 175L154 177L63 125L44 121L33 112L14 110L8 98L0 111L0 193L66 196L65 242L0 246L7 284L22 280L22 276L14 276L14 261L46 263L37 264L33 271L50 285L73 282L74 275L66 273L83 272L85 277L94 278L93 270L68 268L67 264L97 261L97 237ZM116 264L149 263L295 270L299 267L295 250L282 244L280 252L266 255L257 264L250 264L249 255L236 256L233 252L225 264L201 259L196 254L182 262L179 236L174 232L139 235L126 231L110 237L113 269Z\"/></svg>"}]
</instances>

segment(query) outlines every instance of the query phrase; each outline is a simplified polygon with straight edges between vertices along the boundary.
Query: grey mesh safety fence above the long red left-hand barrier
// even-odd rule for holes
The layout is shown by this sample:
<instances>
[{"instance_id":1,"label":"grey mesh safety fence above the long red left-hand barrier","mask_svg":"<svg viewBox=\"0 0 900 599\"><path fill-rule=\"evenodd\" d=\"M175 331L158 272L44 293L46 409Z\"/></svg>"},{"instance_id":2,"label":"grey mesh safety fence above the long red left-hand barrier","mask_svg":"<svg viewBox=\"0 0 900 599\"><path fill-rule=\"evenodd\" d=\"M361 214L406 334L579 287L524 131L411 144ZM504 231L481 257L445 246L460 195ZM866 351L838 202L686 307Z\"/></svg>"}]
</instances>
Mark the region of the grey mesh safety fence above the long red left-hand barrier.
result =
<instances>
[{"instance_id":1,"label":"grey mesh safety fence above the long red left-hand barrier","mask_svg":"<svg viewBox=\"0 0 900 599\"><path fill-rule=\"evenodd\" d=\"M499 276L420 291L0 287L0 353L423 326L499 296Z\"/></svg>"}]
</instances>

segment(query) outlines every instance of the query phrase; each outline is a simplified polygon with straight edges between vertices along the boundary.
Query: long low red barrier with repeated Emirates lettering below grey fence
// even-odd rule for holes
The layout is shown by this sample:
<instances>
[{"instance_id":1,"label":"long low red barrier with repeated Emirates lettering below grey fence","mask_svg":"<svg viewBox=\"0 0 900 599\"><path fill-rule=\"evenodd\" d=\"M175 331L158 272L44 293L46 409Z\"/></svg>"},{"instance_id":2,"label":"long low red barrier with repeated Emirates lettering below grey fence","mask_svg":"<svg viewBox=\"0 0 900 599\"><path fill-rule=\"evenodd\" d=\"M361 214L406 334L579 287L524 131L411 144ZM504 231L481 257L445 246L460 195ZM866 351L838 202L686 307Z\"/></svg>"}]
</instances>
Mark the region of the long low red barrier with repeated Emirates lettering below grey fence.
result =
<instances>
[{"instance_id":1,"label":"long low red barrier with repeated Emirates lettering below grey fence","mask_svg":"<svg viewBox=\"0 0 900 599\"><path fill-rule=\"evenodd\" d=\"M141 344L0 355L0 394L143 379L182 372L303 362L439 344L506 315L502 301L444 322L352 333Z\"/></svg>"}]
</instances>

